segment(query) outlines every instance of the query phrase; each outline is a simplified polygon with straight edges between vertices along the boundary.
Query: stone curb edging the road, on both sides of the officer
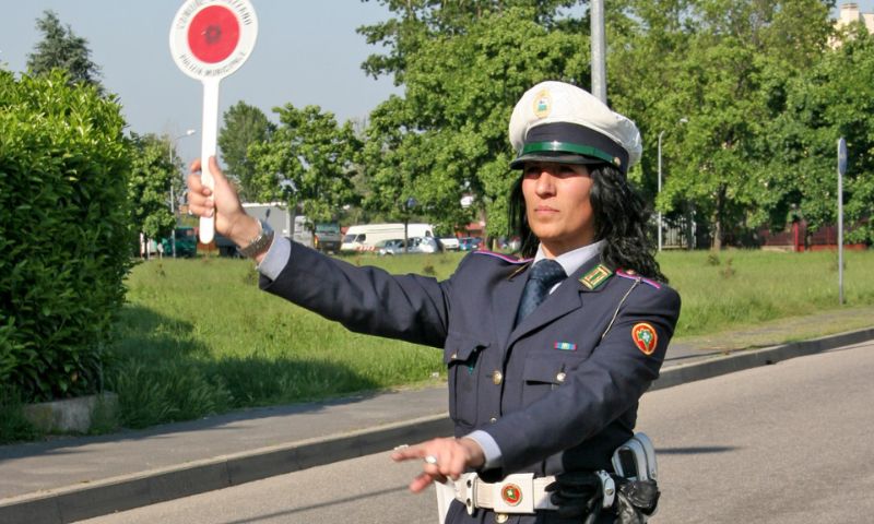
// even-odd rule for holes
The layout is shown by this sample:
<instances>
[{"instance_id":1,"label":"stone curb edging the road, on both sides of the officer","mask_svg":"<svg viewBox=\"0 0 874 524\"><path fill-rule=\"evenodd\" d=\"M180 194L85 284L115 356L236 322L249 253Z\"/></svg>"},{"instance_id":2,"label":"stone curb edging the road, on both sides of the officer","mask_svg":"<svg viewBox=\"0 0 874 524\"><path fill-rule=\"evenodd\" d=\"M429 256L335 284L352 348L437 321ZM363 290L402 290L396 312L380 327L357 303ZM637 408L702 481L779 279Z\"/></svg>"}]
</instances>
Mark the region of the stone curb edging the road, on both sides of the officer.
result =
<instances>
[{"instance_id":1,"label":"stone curb edging the road, on both sides of the officer","mask_svg":"<svg viewBox=\"0 0 874 524\"><path fill-rule=\"evenodd\" d=\"M841 346L874 340L865 329L757 350L740 350L707 360L672 366L650 391L777 364ZM64 524L113 512L190 497L215 489L298 472L333 462L379 453L402 443L452 434L448 414L379 426L342 436L293 442L216 456L7 499L0 503L0 524Z\"/></svg>"}]
</instances>

